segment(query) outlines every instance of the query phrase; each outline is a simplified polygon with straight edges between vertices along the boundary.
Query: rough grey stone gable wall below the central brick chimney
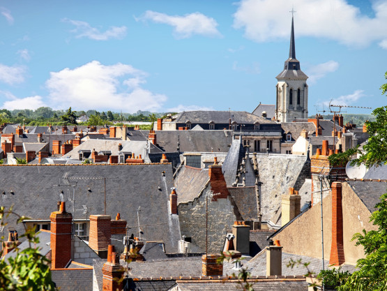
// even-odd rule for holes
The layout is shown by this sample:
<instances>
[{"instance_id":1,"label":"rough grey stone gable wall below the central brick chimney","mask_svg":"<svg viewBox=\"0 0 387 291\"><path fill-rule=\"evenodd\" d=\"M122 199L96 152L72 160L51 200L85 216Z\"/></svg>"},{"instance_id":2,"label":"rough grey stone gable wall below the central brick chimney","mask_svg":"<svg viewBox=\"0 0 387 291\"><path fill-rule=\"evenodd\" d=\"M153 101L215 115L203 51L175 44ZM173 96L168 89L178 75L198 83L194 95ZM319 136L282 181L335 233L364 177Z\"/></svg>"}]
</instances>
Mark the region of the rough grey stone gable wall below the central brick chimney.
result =
<instances>
[{"instance_id":1,"label":"rough grey stone gable wall below the central brick chimney","mask_svg":"<svg viewBox=\"0 0 387 291\"><path fill-rule=\"evenodd\" d=\"M179 204L179 220L181 234L191 237L192 243L206 251L206 199L205 193L194 201ZM222 251L227 231L232 230L234 221L234 205L227 198L218 198L216 201L208 199L208 252Z\"/></svg>"}]
</instances>

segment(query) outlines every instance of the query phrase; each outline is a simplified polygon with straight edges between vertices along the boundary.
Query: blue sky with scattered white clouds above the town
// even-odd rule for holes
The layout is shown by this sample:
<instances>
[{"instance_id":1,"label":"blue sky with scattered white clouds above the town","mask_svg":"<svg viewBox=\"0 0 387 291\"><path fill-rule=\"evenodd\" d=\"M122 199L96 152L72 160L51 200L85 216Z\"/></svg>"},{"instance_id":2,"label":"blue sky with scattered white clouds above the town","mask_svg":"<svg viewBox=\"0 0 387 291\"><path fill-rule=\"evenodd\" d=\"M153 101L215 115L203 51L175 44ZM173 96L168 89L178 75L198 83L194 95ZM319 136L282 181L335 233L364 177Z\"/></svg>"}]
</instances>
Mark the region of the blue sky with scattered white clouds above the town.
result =
<instances>
[{"instance_id":1,"label":"blue sky with scattered white clouds above the town","mask_svg":"<svg viewBox=\"0 0 387 291\"><path fill-rule=\"evenodd\" d=\"M387 0L0 0L0 108L252 112L292 8L309 114L386 105Z\"/></svg>"}]
</instances>

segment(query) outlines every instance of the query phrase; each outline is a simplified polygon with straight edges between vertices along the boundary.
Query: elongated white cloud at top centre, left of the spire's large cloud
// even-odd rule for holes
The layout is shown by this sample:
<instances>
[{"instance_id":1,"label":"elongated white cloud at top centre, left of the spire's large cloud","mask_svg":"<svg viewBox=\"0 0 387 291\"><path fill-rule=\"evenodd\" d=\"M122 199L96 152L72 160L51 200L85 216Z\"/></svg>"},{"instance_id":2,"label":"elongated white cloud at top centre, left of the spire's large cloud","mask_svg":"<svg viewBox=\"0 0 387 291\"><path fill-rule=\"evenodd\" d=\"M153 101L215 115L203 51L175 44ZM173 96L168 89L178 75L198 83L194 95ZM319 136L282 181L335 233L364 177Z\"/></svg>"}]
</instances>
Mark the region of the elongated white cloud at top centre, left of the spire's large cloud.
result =
<instances>
[{"instance_id":1,"label":"elongated white cloud at top centre, left of the spire's large cloud","mask_svg":"<svg viewBox=\"0 0 387 291\"><path fill-rule=\"evenodd\" d=\"M176 38L189 38L194 34L202 36L221 36L216 22L212 17L202 13L191 13L184 16L167 15L155 11L147 10L142 17L137 20L151 20L155 23L168 24L174 27Z\"/></svg>"}]
</instances>

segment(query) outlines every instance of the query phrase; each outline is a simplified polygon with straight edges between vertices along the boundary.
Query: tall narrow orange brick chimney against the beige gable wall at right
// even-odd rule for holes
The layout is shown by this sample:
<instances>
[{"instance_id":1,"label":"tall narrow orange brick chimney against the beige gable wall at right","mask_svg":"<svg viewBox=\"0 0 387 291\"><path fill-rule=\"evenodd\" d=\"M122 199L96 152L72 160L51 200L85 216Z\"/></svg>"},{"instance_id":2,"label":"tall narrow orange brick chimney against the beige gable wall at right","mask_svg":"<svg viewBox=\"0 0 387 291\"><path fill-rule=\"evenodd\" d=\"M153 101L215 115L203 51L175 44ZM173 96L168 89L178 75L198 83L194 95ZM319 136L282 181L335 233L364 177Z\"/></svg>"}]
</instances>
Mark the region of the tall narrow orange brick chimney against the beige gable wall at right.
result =
<instances>
[{"instance_id":1,"label":"tall narrow orange brick chimney against the beige gable wall at right","mask_svg":"<svg viewBox=\"0 0 387 291\"><path fill-rule=\"evenodd\" d=\"M332 244L329 264L344 264L344 243L342 234L342 184L332 183Z\"/></svg>"}]
</instances>

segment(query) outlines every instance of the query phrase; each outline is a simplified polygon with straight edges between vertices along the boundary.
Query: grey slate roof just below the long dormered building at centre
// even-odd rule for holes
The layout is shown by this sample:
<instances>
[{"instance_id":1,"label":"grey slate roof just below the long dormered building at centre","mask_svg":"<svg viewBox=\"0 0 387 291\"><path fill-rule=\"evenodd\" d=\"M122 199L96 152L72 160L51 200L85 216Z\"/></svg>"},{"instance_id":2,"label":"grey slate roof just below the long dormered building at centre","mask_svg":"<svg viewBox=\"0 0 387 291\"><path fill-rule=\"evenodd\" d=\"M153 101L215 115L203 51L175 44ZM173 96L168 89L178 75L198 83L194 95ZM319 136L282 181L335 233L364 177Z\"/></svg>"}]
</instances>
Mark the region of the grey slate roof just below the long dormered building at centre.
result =
<instances>
[{"instance_id":1,"label":"grey slate roof just below the long dormered building at centre","mask_svg":"<svg viewBox=\"0 0 387 291\"><path fill-rule=\"evenodd\" d=\"M178 135L181 152L227 152L232 143L232 136L224 130L157 130L158 147L167 152L176 151Z\"/></svg>"}]
</instances>

